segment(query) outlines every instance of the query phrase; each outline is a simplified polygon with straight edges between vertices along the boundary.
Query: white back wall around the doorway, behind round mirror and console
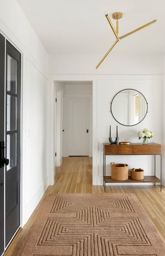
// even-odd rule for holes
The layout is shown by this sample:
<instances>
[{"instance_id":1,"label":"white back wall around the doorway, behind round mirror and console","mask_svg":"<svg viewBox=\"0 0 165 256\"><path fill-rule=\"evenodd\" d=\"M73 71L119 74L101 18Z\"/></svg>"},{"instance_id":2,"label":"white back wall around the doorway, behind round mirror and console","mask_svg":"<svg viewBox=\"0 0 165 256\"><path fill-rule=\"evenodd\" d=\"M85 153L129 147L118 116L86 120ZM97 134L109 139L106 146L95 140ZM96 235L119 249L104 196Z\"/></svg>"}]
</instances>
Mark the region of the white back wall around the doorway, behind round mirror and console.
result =
<instances>
[{"instance_id":1,"label":"white back wall around the doorway, behind round mirror and console","mask_svg":"<svg viewBox=\"0 0 165 256\"><path fill-rule=\"evenodd\" d=\"M92 80L93 81L93 185L102 184L102 143L108 142L109 124L116 131L119 126L121 141L139 142L137 132L148 127L153 133L152 142L161 143L162 132L162 73L163 56L161 55L122 55L108 58L95 70L99 56L49 56L49 93L53 80ZM148 113L145 119L135 126L123 126L109 113L109 103L120 90L136 89L148 101ZM50 101L51 106L51 101ZM51 122L50 122L51 126ZM112 131L113 132L113 131ZM115 136L115 133L114 133ZM51 147L50 147L51 157ZM128 156L113 157L110 161L128 162L131 167L142 167L145 174L153 174L153 157ZM139 166L139 162L143 166ZM159 170L159 166L158 170ZM50 166L51 169L51 166ZM107 165L107 172L109 166Z\"/></svg>"}]
</instances>

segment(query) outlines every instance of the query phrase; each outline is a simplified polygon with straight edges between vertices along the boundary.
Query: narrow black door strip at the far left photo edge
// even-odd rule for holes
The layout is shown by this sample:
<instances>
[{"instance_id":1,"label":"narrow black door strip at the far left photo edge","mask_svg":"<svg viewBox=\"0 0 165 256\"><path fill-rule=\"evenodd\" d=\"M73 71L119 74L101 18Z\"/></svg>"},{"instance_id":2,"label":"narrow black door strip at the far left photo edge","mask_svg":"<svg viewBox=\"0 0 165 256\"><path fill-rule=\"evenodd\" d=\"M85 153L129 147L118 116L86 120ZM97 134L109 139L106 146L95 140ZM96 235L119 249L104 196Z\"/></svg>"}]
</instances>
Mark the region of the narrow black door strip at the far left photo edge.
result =
<instances>
[{"instance_id":1,"label":"narrow black door strip at the far left photo edge","mask_svg":"<svg viewBox=\"0 0 165 256\"><path fill-rule=\"evenodd\" d=\"M5 37L0 34L0 255L4 252Z\"/></svg>"}]
</instances>

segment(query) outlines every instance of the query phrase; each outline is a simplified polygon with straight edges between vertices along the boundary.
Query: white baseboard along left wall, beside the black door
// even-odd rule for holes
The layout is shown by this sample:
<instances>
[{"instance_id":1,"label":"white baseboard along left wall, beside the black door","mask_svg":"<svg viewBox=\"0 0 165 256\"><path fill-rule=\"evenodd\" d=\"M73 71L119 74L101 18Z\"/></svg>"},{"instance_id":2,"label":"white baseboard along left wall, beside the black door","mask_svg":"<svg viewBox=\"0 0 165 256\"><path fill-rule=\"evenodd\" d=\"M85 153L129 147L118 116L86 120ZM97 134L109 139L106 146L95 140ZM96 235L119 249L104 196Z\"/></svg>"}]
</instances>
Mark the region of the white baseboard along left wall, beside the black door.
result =
<instances>
[{"instance_id":1,"label":"white baseboard along left wall, beside the black door","mask_svg":"<svg viewBox=\"0 0 165 256\"><path fill-rule=\"evenodd\" d=\"M30 200L30 202L26 205L26 209L25 209L25 224L29 220L29 218L32 215L32 213L35 210L35 208L37 207L37 205L38 205L39 201L41 200L44 192L46 191L48 185L49 184L48 184L48 176L47 176L46 179L44 180L44 182L42 183L42 185L39 187L39 189L35 193L35 195Z\"/></svg>"}]
</instances>

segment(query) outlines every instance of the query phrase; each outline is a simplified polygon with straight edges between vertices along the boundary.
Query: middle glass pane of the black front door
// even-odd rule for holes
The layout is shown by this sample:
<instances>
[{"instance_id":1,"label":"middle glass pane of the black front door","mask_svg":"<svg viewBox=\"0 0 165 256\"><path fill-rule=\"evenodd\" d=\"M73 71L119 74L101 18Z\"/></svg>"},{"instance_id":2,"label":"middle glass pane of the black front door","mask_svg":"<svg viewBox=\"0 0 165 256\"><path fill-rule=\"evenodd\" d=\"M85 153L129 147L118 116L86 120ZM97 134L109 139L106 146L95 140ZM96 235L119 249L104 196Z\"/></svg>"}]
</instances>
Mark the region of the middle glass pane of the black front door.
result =
<instances>
[{"instance_id":1,"label":"middle glass pane of the black front door","mask_svg":"<svg viewBox=\"0 0 165 256\"><path fill-rule=\"evenodd\" d=\"M17 97L7 95L7 131L17 130Z\"/></svg>"}]
</instances>

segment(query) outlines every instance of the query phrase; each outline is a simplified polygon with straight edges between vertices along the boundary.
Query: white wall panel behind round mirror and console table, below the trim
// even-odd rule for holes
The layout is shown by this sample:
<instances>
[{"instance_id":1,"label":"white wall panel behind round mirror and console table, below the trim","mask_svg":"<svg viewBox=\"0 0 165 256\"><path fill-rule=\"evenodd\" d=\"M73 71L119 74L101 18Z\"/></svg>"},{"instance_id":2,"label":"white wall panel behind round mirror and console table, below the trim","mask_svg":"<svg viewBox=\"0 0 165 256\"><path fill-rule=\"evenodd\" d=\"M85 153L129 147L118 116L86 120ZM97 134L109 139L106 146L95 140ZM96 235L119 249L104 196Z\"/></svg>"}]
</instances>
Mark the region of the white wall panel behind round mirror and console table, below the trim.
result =
<instances>
[{"instance_id":1,"label":"white wall panel behind round mirror and console table, below the trim","mask_svg":"<svg viewBox=\"0 0 165 256\"><path fill-rule=\"evenodd\" d=\"M148 113L142 122L135 126L124 126L116 122L112 113L109 112L110 102L115 94L124 89L135 89L140 91L148 102ZM162 81L156 80L98 80L97 81L97 129L98 129L98 181L102 181L102 143L108 142L109 124L111 124L112 137L116 137L116 125L118 125L118 136L120 141L139 141L137 133L144 127L153 132L153 138L149 142L162 143ZM156 157L159 163L159 156ZM153 156L107 156L106 172L111 175L110 162L128 163L129 168L143 168L147 176L154 175ZM159 164L157 164L159 170ZM160 177L159 172L156 173Z\"/></svg>"}]
</instances>

